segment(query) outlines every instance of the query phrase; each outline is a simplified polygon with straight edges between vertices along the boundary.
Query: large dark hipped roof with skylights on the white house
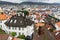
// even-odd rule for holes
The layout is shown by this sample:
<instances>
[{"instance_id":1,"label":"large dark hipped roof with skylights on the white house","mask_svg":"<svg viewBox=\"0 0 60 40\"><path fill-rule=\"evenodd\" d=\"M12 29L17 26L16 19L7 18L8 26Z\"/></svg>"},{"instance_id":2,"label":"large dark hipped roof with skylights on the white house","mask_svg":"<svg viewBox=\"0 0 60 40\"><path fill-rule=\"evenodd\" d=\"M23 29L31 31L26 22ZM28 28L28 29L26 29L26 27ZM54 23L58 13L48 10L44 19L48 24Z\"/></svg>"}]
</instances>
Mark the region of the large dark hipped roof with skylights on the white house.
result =
<instances>
[{"instance_id":1,"label":"large dark hipped roof with skylights on the white house","mask_svg":"<svg viewBox=\"0 0 60 40\"><path fill-rule=\"evenodd\" d=\"M9 27L26 27L32 24L33 24L33 21L31 21L30 19L27 19L26 17L23 17L23 16L18 16L18 15L12 16L10 20L5 22L5 25Z\"/></svg>"}]
</instances>

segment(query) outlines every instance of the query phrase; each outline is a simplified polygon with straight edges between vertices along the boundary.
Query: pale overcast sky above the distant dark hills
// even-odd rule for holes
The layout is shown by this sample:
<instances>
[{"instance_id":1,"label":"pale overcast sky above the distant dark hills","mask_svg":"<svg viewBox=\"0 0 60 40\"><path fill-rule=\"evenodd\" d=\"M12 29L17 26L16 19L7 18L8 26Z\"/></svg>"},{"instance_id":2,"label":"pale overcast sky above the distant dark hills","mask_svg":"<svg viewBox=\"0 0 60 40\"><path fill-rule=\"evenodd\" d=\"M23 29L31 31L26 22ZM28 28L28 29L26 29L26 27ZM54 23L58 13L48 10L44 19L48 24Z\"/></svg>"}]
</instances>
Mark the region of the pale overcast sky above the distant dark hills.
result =
<instances>
[{"instance_id":1,"label":"pale overcast sky above the distant dark hills","mask_svg":"<svg viewBox=\"0 0 60 40\"><path fill-rule=\"evenodd\" d=\"M21 3L21 2L24 2L24 1L60 3L60 0L0 0L0 1L8 1L8 2L14 2L14 3Z\"/></svg>"}]
</instances>

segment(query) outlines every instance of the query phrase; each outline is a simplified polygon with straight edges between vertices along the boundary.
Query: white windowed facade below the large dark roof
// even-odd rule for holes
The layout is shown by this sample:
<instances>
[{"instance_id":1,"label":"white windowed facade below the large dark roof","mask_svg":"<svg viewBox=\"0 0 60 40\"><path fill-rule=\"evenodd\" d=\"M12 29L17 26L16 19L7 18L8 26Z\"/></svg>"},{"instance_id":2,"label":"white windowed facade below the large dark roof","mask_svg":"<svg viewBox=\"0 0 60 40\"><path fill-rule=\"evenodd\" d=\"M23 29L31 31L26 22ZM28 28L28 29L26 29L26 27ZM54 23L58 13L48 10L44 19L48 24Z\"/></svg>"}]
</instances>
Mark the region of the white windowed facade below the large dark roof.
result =
<instances>
[{"instance_id":1,"label":"white windowed facade below the large dark roof","mask_svg":"<svg viewBox=\"0 0 60 40\"><path fill-rule=\"evenodd\" d=\"M31 36L32 33L34 32L34 25L31 25L31 26L27 26L25 28L20 28L20 27L7 27L7 32L8 34L11 33L11 32L16 32L17 35L25 35L25 36Z\"/></svg>"}]
</instances>

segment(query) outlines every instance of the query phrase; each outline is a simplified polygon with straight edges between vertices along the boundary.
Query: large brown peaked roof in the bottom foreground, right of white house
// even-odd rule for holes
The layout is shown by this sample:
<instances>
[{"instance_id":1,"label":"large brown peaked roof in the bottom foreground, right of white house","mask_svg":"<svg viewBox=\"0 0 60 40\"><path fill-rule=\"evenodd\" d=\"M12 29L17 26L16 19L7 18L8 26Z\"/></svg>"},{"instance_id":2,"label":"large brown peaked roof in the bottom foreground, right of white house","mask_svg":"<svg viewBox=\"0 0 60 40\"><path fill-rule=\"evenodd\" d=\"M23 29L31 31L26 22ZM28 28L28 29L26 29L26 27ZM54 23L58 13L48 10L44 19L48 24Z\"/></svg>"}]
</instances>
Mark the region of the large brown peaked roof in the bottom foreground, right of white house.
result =
<instances>
[{"instance_id":1,"label":"large brown peaked roof in the bottom foreground, right of white house","mask_svg":"<svg viewBox=\"0 0 60 40\"><path fill-rule=\"evenodd\" d=\"M38 35L37 31L34 33L33 40L56 40L52 33L50 33L45 27L44 34Z\"/></svg>"}]
</instances>

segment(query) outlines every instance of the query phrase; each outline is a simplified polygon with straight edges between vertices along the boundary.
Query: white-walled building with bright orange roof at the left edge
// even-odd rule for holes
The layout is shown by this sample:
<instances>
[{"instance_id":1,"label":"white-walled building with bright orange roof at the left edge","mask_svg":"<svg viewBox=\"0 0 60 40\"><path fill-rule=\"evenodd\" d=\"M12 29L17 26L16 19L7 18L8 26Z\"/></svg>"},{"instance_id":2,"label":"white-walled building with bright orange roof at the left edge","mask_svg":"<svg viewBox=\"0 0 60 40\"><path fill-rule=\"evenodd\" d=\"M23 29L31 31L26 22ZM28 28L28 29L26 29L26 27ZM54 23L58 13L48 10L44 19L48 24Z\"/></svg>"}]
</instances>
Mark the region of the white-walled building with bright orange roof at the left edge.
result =
<instances>
[{"instance_id":1,"label":"white-walled building with bright orange roof at the left edge","mask_svg":"<svg viewBox=\"0 0 60 40\"><path fill-rule=\"evenodd\" d=\"M5 13L0 13L0 28L6 31L5 22L9 20L11 17L6 15Z\"/></svg>"}]
</instances>

